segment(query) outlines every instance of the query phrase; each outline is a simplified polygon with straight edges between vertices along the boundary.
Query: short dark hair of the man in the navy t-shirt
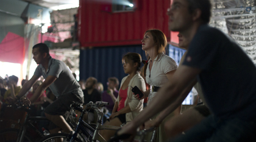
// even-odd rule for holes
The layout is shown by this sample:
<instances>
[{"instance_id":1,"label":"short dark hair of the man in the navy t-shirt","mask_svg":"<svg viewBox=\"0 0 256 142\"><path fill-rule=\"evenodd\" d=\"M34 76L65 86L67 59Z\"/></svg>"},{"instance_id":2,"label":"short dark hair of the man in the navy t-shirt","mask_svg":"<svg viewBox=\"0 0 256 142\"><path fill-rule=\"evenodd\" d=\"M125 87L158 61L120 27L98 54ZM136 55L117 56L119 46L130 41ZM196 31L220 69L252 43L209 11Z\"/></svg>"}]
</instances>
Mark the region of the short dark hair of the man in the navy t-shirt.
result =
<instances>
[{"instance_id":1,"label":"short dark hair of the man in the navy t-shirt","mask_svg":"<svg viewBox=\"0 0 256 142\"><path fill-rule=\"evenodd\" d=\"M196 9L201 10L201 20L204 23L209 23L212 16L212 2L210 0L187 0L189 12L194 12Z\"/></svg>"}]
</instances>

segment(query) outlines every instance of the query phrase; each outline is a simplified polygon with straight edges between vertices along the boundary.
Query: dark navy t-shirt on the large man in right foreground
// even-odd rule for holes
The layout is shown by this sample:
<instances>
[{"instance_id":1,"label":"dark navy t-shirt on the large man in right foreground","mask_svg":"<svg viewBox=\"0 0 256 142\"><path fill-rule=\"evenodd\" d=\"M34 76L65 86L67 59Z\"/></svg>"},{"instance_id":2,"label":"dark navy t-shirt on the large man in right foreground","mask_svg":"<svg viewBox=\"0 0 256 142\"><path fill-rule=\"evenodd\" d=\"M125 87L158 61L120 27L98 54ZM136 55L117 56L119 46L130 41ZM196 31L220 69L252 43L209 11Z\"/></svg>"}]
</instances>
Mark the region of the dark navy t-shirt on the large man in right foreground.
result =
<instances>
[{"instance_id":1,"label":"dark navy t-shirt on the large man in right foreground","mask_svg":"<svg viewBox=\"0 0 256 142\"><path fill-rule=\"evenodd\" d=\"M227 35L207 24L200 26L183 65L202 69L197 80L214 115L256 119L255 65Z\"/></svg>"}]
</instances>

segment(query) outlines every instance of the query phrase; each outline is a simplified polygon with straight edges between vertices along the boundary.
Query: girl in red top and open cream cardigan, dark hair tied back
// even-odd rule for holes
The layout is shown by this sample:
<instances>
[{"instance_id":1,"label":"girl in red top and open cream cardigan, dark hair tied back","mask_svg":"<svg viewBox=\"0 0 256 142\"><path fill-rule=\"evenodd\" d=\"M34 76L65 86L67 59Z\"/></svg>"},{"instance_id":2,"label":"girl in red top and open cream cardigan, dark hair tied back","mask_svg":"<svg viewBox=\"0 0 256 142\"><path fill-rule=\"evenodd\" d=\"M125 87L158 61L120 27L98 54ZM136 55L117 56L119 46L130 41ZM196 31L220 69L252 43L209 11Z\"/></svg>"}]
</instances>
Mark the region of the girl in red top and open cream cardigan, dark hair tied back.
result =
<instances>
[{"instance_id":1,"label":"girl in red top and open cream cardigan, dark hair tied back","mask_svg":"<svg viewBox=\"0 0 256 142\"><path fill-rule=\"evenodd\" d=\"M140 76L141 55L137 53L127 53L123 59L124 77L116 99L110 121L106 121L107 126L121 126L124 122L132 121L143 109L143 99L138 101L133 98L132 87L137 86L140 90L145 91L146 85L143 77ZM115 134L114 130L101 130L99 132L105 140L110 140Z\"/></svg>"}]
</instances>

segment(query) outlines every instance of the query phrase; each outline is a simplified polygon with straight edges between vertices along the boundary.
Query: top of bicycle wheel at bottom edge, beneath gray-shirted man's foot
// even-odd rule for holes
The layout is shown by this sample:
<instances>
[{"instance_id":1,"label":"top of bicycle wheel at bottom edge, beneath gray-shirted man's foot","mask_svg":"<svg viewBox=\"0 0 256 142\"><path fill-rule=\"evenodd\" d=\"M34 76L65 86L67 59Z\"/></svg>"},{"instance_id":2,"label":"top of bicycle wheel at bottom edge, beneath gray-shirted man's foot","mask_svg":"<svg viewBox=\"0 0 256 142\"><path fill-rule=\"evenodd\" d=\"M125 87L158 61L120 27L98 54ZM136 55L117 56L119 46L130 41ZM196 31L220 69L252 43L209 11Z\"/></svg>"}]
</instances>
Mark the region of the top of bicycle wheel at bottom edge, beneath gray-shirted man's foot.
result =
<instances>
[{"instance_id":1,"label":"top of bicycle wheel at bottom edge, beneath gray-shirted man's foot","mask_svg":"<svg viewBox=\"0 0 256 142\"><path fill-rule=\"evenodd\" d=\"M54 133L54 134L51 134L51 135L48 135L44 138L42 138L40 140L40 142L52 142L52 141L55 141L55 138L63 138L63 142L68 142L66 140L66 138L68 137L68 133ZM75 138L76 142L83 142L82 140L80 140L79 138Z\"/></svg>"}]
</instances>

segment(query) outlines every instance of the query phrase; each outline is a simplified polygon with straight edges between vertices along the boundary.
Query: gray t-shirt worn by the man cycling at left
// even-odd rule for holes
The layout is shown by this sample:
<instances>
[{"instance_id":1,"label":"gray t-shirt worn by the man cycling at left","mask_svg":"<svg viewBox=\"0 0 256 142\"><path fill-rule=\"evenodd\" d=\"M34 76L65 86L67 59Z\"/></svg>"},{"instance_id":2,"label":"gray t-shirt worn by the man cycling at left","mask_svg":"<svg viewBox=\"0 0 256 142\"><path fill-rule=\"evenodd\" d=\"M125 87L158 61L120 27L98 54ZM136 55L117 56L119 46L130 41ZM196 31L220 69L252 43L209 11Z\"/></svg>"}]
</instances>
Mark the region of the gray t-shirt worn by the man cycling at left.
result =
<instances>
[{"instance_id":1,"label":"gray t-shirt worn by the man cycling at left","mask_svg":"<svg viewBox=\"0 0 256 142\"><path fill-rule=\"evenodd\" d=\"M34 75L38 77L43 76L44 79L48 76L57 77L57 79L49 86L52 93L57 97L68 93L76 94L77 96L80 96L80 98L84 97L79 83L65 63L60 60L52 59L52 57L50 57L47 72L43 65L40 64L37 66L37 69L35 69Z\"/></svg>"}]
</instances>

